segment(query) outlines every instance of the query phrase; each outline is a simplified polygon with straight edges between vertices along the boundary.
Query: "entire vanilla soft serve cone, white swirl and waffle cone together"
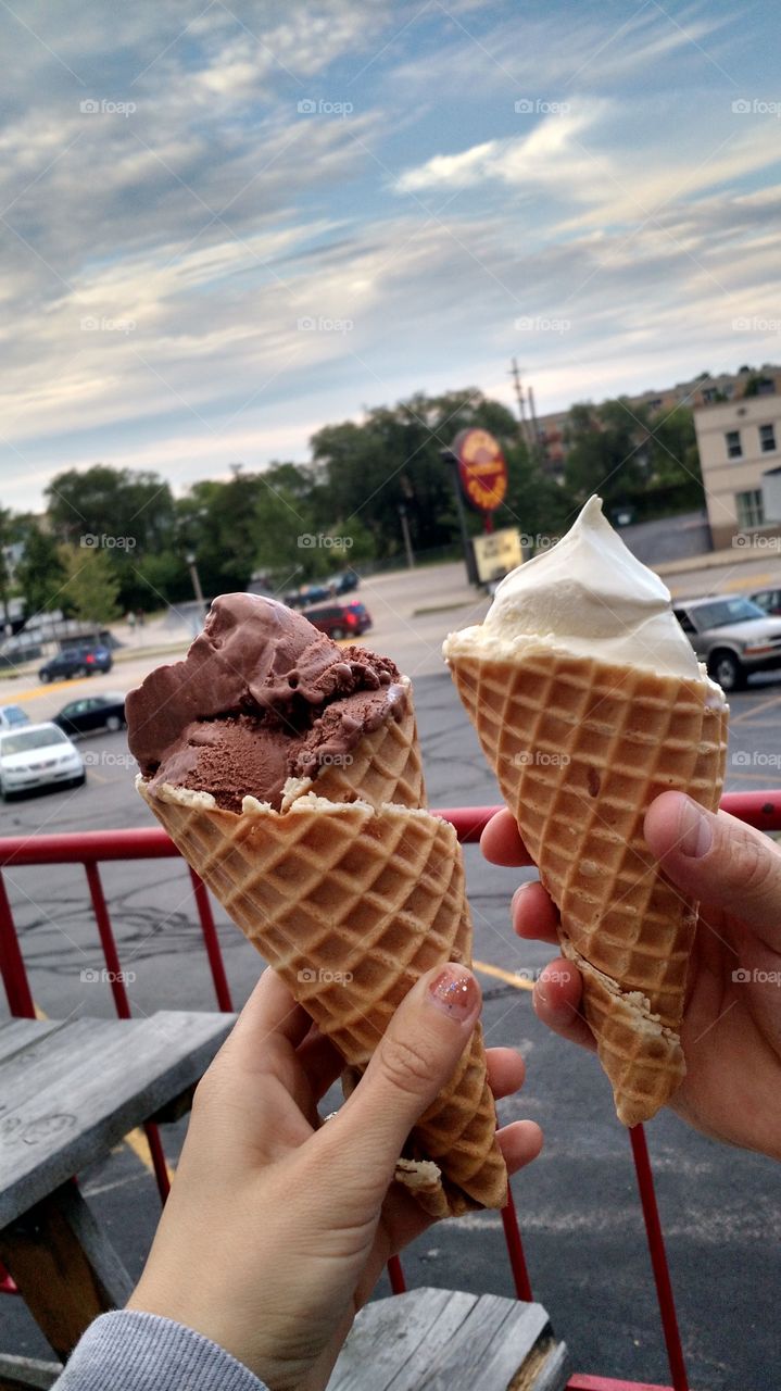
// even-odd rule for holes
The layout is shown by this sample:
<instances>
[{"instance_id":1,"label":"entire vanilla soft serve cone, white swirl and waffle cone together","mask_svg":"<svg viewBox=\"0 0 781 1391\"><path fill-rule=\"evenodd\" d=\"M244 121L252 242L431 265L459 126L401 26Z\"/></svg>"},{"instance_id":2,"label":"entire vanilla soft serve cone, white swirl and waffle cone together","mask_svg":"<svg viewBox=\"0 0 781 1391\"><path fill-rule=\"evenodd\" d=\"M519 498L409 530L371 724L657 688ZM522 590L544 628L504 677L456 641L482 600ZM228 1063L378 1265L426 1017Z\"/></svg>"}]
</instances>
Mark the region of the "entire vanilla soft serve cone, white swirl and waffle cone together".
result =
<instances>
[{"instance_id":1,"label":"entire vanilla soft serve cone, white swirl and waffle cone together","mask_svg":"<svg viewBox=\"0 0 781 1391\"><path fill-rule=\"evenodd\" d=\"M581 974L617 1114L636 1125L685 1077L696 932L696 904L653 861L645 817L667 791L718 807L724 696L599 498L502 581L485 622L453 633L445 655L559 908L561 953Z\"/></svg>"}]
</instances>

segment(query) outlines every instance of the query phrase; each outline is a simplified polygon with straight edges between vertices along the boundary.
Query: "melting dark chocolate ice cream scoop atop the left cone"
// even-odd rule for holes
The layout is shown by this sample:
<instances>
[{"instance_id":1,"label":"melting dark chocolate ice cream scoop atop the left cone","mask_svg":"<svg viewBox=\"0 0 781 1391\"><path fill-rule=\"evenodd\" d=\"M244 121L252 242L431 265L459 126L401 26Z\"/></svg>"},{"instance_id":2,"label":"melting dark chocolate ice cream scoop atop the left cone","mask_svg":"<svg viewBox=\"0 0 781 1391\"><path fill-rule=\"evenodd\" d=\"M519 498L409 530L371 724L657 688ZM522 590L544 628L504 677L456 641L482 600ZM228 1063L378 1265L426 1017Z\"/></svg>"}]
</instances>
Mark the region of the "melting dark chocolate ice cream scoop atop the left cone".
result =
<instances>
[{"instance_id":1,"label":"melting dark chocolate ice cream scoop atop the left cone","mask_svg":"<svg viewBox=\"0 0 781 1391\"><path fill-rule=\"evenodd\" d=\"M290 776L315 776L388 719L406 689L386 657L339 648L302 613L224 594L183 662L158 666L125 704L128 743L154 787L245 796L279 810Z\"/></svg>"}]
</instances>

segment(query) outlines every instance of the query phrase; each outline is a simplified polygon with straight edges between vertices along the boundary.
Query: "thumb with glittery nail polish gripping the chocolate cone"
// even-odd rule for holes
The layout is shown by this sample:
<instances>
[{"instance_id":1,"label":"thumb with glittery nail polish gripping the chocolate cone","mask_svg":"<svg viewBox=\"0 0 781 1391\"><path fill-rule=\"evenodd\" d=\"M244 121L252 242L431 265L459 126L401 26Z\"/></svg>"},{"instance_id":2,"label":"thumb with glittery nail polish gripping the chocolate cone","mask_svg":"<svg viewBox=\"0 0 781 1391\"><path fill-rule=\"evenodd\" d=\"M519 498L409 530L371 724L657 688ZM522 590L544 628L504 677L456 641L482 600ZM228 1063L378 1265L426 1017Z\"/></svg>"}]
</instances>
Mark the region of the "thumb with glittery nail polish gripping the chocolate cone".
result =
<instances>
[{"instance_id":1,"label":"thumb with glittery nail polish gripping the chocolate cone","mask_svg":"<svg viewBox=\"0 0 781 1391\"><path fill-rule=\"evenodd\" d=\"M449 963L416 982L350 1099L320 1131L384 1192L413 1125L456 1070L481 1006L471 971ZM329 1134L328 1134L329 1132Z\"/></svg>"}]
</instances>

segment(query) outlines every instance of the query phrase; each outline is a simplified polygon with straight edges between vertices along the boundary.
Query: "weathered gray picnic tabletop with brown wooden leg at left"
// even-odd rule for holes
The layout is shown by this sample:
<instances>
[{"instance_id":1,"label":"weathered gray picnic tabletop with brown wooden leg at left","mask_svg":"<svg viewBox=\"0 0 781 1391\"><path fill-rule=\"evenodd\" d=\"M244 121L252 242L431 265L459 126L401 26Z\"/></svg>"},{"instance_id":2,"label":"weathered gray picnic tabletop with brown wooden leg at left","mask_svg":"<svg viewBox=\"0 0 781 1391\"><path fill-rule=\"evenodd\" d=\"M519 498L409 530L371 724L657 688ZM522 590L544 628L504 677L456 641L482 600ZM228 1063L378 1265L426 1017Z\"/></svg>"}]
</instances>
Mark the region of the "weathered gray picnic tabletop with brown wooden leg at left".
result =
<instances>
[{"instance_id":1,"label":"weathered gray picnic tabletop with brown wooden leg at left","mask_svg":"<svg viewBox=\"0 0 781 1391\"><path fill-rule=\"evenodd\" d=\"M232 1024L181 1011L0 1024L0 1259L60 1358L132 1288L72 1177L136 1125L183 1114ZM56 1373L0 1355L0 1391Z\"/></svg>"}]
</instances>

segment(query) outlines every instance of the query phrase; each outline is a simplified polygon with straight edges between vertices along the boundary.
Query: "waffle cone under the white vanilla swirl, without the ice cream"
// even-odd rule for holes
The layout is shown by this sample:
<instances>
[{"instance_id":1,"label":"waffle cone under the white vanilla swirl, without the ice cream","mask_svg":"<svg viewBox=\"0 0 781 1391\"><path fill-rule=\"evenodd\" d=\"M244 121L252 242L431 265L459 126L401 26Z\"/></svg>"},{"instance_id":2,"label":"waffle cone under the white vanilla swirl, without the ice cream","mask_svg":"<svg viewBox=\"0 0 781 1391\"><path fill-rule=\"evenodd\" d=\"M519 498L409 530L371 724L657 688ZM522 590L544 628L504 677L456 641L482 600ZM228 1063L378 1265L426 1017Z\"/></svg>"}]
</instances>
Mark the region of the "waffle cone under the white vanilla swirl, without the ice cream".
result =
<instances>
[{"instance_id":1,"label":"waffle cone under the white vanilla swirl, without the ice cream","mask_svg":"<svg viewBox=\"0 0 781 1391\"><path fill-rule=\"evenodd\" d=\"M705 682L543 648L449 662L559 908L561 950L582 971L618 1117L649 1120L685 1075L678 1031L698 906L661 875L643 817L668 790L717 808L728 709Z\"/></svg>"}]
</instances>

